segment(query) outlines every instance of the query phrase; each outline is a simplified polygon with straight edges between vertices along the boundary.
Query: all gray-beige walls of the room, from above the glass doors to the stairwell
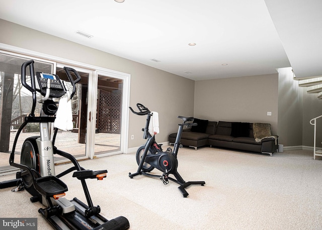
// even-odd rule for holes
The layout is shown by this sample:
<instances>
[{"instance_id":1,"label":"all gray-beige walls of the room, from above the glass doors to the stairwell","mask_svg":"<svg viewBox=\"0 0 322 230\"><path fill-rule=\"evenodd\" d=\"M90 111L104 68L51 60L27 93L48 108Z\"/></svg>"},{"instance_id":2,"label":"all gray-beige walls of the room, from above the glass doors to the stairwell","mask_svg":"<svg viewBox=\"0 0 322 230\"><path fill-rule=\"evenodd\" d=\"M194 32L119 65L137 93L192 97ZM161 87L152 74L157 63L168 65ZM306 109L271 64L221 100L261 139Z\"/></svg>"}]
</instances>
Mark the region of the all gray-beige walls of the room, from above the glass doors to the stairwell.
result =
<instances>
[{"instance_id":1,"label":"all gray-beige walls of the room, from above the glass doors to the stairwell","mask_svg":"<svg viewBox=\"0 0 322 230\"><path fill-rule=\"evenodd\" d=\"M192 81L4 20L0 28L0 43L131 74L130 105L139 102L159 112L158 142L168 141L168 135L177 131L181 115L266 122L272 124L280 144L313 146L309 120L322 114L322 100L303 93L289 69L280 69L279 74ZM128 148L144 143L144 124L145 118L130 113L129 137L134 134L135 139L129 138ZM318 126L322 127L322 121Z\"/></svg>"}]
</instances>

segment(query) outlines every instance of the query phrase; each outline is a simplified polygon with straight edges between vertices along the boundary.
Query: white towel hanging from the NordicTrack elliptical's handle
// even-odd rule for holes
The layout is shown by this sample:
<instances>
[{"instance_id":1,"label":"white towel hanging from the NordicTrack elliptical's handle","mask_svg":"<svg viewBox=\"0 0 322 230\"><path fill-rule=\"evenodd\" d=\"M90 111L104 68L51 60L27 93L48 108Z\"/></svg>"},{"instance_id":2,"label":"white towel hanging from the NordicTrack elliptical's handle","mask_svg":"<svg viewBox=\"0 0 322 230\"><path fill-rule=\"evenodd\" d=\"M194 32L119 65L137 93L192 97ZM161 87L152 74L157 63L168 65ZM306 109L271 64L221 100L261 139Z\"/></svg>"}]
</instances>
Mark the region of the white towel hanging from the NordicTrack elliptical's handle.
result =
<instances>
[{"instance_id":1,"label":"white towel hanging from the NordicTrack elliptical's handle","mask_svg":"<svg viewBox=\"0 0 322 230\"><path fill-rule=\"evenodd\" d=\"M67 97L59 100L54 127L64 131L73 129L71 101L67 101Z\"/></svg>"}]
</instances>

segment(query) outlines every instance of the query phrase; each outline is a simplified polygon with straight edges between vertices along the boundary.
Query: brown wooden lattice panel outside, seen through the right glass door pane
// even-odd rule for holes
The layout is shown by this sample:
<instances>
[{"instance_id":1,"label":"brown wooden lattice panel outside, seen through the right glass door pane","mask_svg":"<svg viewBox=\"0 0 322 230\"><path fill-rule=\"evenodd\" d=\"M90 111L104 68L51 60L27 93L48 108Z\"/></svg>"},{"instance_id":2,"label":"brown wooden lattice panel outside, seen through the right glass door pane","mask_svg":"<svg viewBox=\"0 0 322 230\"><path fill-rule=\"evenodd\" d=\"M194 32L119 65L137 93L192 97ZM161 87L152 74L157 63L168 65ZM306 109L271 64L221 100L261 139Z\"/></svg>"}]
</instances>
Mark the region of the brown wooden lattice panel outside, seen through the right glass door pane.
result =
<instances>
[{"instance_id":1,"label":"brown wooden lattice panel outside, seen through the right glass door pane","mask_svg":"<svg viewBox=\"0 0 322 230\"><path fill-rule=\"evenodd\" d=\"M119 92L111 93L100 90L98 131L102 133L120 134L121 96Z\"/></svg>"}]
</instances>

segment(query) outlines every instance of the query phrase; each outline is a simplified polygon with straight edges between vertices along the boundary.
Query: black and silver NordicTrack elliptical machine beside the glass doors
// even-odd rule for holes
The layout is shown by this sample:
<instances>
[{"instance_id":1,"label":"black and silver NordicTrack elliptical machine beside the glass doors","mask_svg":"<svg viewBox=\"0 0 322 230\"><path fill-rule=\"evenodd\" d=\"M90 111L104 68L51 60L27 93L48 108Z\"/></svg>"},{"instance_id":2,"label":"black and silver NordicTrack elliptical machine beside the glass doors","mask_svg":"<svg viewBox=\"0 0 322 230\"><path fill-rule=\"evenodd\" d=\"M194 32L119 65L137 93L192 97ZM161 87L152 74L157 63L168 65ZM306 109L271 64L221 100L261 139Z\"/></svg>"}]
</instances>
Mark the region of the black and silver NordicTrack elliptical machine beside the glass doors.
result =
<instances>
[{"instance_id":1,"label":"black and silver NordicTrack elliptical machine beside the glass doors","mask_svg":"<svg viewBox=\"0 0 322 230\"><path fill-rule=\"evenodd\" d=\"M72 85L72 92L62 82L58 75L50 73L34 73L34 61L30 60L22 65L22 84L32 93L32 108L28 117L17 131L17 135L10 154L10 165L20 168L15 180L0 183L0 188L17 186L24 188L32 197L31 202L41 202L46 208L38 210L55 229L127 229L129 222L123 216L107 220L100 215L101 208L99 205L94 206L86 179L102 180L106 177L107 170L85 170L77 160L66 152L58 150L54 146L58 129L54 128L54 134L51 138L51 125L54 123L54 114L58 110L53 98L67 96L70 100L75 93L75 84L81 80L81 76L72 68L64 67L66 75ZM30 85L26 82L26 70L29 66ZM72 76L72 74L74 76ZM40 92L42 98L36 98L36 92ZM36 103L42 104L40 116L35 116ZM62 103L62 102L61 102ZM40 136L30 137L24 141L21 151L20 164L15 163L15 148L20 133L29 123L39 123ZM69 159L73 166L64 172L55 175L54 154ZM63 196L68 190L66 184L59 178L72 172L73 177L79 179L87 199L87 204L77 198L67 200Z\"/></svg>"}]
</instances>

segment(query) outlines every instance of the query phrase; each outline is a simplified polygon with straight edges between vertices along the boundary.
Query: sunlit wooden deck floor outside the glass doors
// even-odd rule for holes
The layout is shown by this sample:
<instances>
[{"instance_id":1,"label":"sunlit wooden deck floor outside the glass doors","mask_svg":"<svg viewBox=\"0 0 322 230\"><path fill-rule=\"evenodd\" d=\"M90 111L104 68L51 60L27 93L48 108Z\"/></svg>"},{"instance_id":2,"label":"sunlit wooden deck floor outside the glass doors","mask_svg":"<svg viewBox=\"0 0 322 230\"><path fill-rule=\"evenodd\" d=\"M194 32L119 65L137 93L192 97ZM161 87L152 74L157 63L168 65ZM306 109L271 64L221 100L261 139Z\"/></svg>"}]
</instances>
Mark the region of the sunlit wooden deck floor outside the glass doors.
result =
<instances>
[{"instance_id":1,"label":"sunlit wooden deck floor outside the glass doors","mask_svg":"<svg viewBox=\"0 0 322 230\"><path fill-rule=\"evenodd\" d=\"M26 138L32 136L39 136L39 133L21 133L15 149L15 162L20 162L20 152L23 142ZM12 151L13 142L16 137L16 132L10 133L9 151ZM95 134L95 154L104 154L115 152L120 149L120 134ZM78 134L70 131L59 131L56 136L55 146L64 152L70 153L74 157L81 157L86 155L86 144L78 143ZM9 153L0 152L0 172L9 169ZM55 155L55 160L63 159Z\"/></svg>"}]
</instances>

